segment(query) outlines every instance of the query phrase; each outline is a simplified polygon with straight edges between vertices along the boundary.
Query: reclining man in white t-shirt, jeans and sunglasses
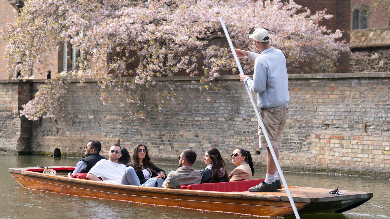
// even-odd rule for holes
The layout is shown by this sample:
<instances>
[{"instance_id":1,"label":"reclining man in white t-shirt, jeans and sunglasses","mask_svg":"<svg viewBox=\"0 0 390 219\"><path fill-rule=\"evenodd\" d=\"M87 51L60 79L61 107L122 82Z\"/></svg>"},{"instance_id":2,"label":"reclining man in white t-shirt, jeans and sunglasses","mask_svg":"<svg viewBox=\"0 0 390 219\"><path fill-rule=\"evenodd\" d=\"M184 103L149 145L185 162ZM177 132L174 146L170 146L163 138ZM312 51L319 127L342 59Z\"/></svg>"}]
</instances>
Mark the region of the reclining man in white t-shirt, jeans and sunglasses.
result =
<instances>
[{"instance_id":1,"label":"reclining man in white t-shirt, jeans and sunglasses","mask_svg":"<svg viewBox=\"0 0 390 219\"><path fill-rule=\"evenodd\" d=\"M121 146L113 144L108 151L108 160L100 160L87 174L87 179L124 184L124 185L141 185L137 173L133 167L118 163L119 157L122 156ZM99 179L102 178L101 179ZM161 187L163 184L161 177L153 177L147 180L142 186Z\"/></svg>"}]
</instances>

